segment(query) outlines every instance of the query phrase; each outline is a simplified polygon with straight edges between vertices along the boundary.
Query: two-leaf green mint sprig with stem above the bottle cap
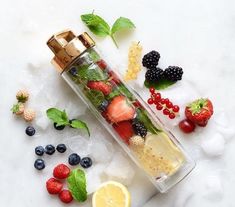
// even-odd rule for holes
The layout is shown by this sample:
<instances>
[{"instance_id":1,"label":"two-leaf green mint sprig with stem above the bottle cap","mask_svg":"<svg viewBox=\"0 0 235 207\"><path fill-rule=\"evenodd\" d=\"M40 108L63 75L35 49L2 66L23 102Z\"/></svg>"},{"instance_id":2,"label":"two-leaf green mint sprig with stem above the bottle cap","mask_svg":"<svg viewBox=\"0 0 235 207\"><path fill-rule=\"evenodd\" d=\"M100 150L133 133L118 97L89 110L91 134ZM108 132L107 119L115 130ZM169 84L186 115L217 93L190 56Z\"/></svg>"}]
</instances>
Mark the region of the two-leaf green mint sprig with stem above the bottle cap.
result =
<instances>
[{"instance_id":1,"label":"two-leaf green mint sprig with stem above the bottle cap","mask_svg":"<svg viewBox=\"0 0 235 207\"><path fill-rule=\"evenodd\" d=\"M114 38L114 34L117 32L133 29L135 28L134 23L125 17L118 18L112 28L110 28L109 24L100 16L92 13L92 14L83 14L81 15L81 20L86 24L86 26L93 32L95 35L99 37L110 36L114 42L114 44L118 47L117 42Z\"/></svg>"}]
</instances>

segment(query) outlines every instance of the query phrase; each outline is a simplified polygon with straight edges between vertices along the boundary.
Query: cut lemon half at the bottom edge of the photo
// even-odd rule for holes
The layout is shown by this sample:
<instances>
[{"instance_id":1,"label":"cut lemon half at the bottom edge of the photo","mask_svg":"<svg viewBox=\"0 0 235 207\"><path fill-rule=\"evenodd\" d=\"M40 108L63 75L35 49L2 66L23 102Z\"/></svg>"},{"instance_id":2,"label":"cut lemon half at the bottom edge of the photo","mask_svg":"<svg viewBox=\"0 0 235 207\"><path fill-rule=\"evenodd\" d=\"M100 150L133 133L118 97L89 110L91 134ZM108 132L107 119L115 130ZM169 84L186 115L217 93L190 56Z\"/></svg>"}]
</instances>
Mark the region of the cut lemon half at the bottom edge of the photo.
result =
<instances>
[{"instance_id":1,"label":"cut lemon half at the bottom edge of the photo","mask_svg":"<svg viewBox=\"0 0 235 207\"><path fill-rule=\"evenodd\" d=\"M130 207L131 197L121 183L109 181L93 194L92 207Z\"/></svg>"}]
</instances>

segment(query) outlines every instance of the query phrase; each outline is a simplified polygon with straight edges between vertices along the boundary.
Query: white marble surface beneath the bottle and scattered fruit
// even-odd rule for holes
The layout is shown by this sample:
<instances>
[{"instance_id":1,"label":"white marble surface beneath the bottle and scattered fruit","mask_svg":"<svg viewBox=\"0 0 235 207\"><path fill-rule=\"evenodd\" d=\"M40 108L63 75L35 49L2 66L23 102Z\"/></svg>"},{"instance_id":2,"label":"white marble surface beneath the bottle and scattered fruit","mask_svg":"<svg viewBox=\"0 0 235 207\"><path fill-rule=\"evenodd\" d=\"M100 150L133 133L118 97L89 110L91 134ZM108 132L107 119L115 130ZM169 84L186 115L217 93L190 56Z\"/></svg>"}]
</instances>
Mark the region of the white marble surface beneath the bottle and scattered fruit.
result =
<instances>
[{"instance_id":1,"label":"white marble surface beneath the bottle and scattered fruit","mask_svg":"<svg viewBox=\"0 0 235 207\"><path fill-rule=\"evenodd\" d=\"M79 106L76 113L90 123L92 131L102 131L81 100L74 97L69 87L53 70L50 65L52 54L45 44L53 33L64 28L72 28L77 33L86 31L80 21L80 15L92 10L110 24L119 16L129 17L136 24L137 28L133 34L119 40L119 49L114 47L109 38L100 39L93 36L104 57L121 74L126 68L130 41L140 41L144 52L156 49L161 53L160 67L179 65L184 68L181 83L164 91L165 96L171 97L181 106L195 97L210 97L215 106L215 115L208 127L198 129L192 135L182 134L175 126L176 121L169 122L163 118L165 124L179 137L197 161L197 167L183 182L165 194L156 194L149 181L137 171L133 180L129 180L132 207L233 207L233 0L1 1L0 205L63 206L58 199L47 195L44 183L51 176L53 165L65 162L67 155L47 157L47 168L43 172L36 172L33 168L34 147L49 142L68 142L67 137L75 136L76 133L53 131L45 120L45 109L51 106L68 108L69 113L73 115ZM143 74L144 71L139 79L130 85L146 99L147 90L142 86ZM24 134L26 124L13 117L9 111L15 102L15 92L23 87L28 88L31 93L29 106L35 108L38 113L37 121L33 123L38 131L32 138ZM98 135L99 139L105 139L112 145L113 156L121 153L125 157L108 133L102 131ZM125 162L126 166L130 166L127 172L136 171L130 160L125 159ZM97 171L107 167L102 157L97 166ZM90 176L92 177L92 174ZM95 179L92 182L99 183ZM71 206L90 206L90 203L74 203Z\"/></svg>"}]
</instances>

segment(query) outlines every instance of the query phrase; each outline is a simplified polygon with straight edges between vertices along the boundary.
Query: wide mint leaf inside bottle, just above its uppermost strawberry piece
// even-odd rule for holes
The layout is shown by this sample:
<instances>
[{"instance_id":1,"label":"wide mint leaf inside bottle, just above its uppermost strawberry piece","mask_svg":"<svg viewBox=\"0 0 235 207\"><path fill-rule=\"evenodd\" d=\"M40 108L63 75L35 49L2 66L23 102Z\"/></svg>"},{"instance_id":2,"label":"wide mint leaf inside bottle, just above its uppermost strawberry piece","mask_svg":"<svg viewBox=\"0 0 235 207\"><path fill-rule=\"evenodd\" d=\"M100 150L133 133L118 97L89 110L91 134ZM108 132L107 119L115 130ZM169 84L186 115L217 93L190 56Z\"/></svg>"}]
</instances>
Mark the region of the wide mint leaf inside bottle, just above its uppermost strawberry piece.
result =
<instances>
[{"instance_id":1,"label":"wide mint leaf inside bottle, just above its uppermost strawberry piece","mask_svg":"<svg viewBox=\"0 0 235 207\"><path fill-rule=\"evenodd\" d=\"M106 80L108 78L107 73L102 71L99 67L88 68L81 67L78 70L78 75L81 79L85 80L93 80L93 81L101 81Z\"/></svg>"}]
</instances>

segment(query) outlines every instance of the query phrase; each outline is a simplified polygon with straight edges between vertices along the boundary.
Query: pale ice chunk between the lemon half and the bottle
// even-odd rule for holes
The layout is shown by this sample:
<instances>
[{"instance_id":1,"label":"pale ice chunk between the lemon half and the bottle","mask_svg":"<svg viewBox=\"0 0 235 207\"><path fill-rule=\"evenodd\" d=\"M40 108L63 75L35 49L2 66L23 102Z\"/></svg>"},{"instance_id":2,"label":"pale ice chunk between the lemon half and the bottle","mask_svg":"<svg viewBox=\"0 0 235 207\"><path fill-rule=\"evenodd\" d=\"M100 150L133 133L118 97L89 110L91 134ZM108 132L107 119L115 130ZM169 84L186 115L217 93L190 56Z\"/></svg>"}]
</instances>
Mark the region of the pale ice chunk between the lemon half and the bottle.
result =
<instances>
[{"instance_id":1,"label":"pale ice chunk between the lemon half and the bottle","mask_svg":"<svg viewBox=\"0 0 235 207\"><path fill-rule=\"evenodd\" d=\"M111 180L129 185L132 182L135 171L129 160L121 152L117 152L105 169L104 174Z\"/></svg>"}]
</instances>

